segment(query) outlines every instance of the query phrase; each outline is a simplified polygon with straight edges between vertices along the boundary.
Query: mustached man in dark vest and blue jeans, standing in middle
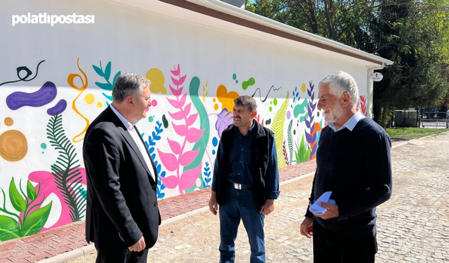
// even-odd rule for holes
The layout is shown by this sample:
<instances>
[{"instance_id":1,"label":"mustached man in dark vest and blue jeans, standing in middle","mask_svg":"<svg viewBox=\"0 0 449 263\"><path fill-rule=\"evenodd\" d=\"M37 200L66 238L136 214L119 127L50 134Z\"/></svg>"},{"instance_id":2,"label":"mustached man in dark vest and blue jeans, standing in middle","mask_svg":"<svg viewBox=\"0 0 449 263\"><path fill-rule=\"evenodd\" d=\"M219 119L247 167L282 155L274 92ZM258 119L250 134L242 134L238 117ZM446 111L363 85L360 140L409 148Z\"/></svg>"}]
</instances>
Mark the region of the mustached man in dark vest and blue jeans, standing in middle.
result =
<instances>
[{"instance_id":1,"label":"mustached man in dark vest and blue jeans, standing in middle","mask_svg":"<svg viewBox=\"0 0 449 263\"><path fill-rule=\"evenodd\" d=\"M235 260L234 241L243 221L251 263L265 262L264 218L279 196L279 171L274 133L254 117L253 97L234 100L234 124L223 131L215 161L209 208L220 205L220 263Z\"/></svg>"}]
</instances>

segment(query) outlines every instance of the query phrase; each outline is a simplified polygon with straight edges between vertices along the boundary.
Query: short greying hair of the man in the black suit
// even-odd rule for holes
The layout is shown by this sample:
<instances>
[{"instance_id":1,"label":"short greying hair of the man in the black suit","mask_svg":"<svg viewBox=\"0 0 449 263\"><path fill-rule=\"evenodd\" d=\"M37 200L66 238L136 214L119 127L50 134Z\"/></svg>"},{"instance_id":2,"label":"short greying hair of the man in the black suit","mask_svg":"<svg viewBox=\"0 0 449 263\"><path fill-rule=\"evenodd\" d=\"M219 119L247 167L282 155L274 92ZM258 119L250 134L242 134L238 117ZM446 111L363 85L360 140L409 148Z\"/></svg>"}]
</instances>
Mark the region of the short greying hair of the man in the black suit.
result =
<instances>
[{"instance_id":1,"label":"short greying hair of the man in the black suit","mask_svg":"<svg viewBox=\"0 0 449 263\"><path fill-rule=\"evenodd\" d=\"M149 80L135 73L123 73L115 80L112 89L112 99L121 103L128 96L137 97L142 95L143 88L149 86Z\"/></svg>"}]
</instances>

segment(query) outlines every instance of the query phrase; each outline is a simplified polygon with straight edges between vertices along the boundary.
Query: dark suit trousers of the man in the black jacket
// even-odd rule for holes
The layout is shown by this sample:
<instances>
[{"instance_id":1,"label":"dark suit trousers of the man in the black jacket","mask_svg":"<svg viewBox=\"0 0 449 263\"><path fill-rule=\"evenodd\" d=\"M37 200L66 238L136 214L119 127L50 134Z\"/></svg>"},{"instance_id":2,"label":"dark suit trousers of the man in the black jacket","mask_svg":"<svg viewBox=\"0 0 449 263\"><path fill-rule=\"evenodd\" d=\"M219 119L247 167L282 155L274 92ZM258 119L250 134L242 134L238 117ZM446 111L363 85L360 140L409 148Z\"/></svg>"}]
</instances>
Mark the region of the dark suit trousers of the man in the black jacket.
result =
<instances>
[{"instance_id":1,"label":"dark suit trousers of the man in the black jacket","mask_svg":"<svg viewBox=\"0 0 449 263\"><path fill-rule=\"evenodd\" d=\"M131 252L126 249L97 249L95 263L147 263L148 250Z\"/></svg>"}]
</instances>

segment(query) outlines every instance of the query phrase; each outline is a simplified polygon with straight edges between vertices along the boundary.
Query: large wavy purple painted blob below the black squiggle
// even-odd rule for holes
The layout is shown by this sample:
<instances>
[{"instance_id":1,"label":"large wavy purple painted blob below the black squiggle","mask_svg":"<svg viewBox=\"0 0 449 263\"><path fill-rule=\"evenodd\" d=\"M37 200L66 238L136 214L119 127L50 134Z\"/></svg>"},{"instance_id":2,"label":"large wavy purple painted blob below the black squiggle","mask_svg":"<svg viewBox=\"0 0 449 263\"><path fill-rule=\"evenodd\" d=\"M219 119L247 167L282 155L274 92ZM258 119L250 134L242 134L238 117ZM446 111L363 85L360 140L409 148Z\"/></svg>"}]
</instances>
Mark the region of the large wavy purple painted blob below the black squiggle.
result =
<instances>
[{"instance_id":1,"label":"large wavy purple painted blob below the black squiggle","mask_svg":"<svg viewBox=\"0 0 449 263\"><path fill-rule=\"evenodd\" d=\"M22 93L20 91L11 93L6 97L6 104L12 110L20 109L24 106L41 107L55 100L56 86L53 82L47 81L43 83L42 88L34 93Z\"/></svg>"}]
</instances>

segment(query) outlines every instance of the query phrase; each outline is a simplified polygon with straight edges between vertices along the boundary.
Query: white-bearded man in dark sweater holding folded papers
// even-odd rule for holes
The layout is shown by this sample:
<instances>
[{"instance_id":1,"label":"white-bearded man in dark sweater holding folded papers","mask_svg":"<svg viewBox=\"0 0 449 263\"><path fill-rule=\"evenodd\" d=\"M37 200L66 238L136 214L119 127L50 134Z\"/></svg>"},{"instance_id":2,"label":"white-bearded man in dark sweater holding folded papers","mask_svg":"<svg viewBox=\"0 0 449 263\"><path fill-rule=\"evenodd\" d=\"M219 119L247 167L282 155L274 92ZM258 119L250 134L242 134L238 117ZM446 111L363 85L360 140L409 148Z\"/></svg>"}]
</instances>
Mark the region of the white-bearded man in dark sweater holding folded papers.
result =
<instances>
[{"instance_id":1,"label":"white-bearded man in dark sweater holding folded papers","mask_svg":"<svg viewBox=\"0 0 449 263\"><path fill-rule=\"evenodd\" d=\"M323 128L316 152L316 173L309 206L326 191L332 202L309 209L301 234L314 238L314 262L375 262L376 207L391 196L391 141L375 121L355 105L358 88L345 72L333 72L319 83L318 109Z\"/></svg>"}]
</instances>

